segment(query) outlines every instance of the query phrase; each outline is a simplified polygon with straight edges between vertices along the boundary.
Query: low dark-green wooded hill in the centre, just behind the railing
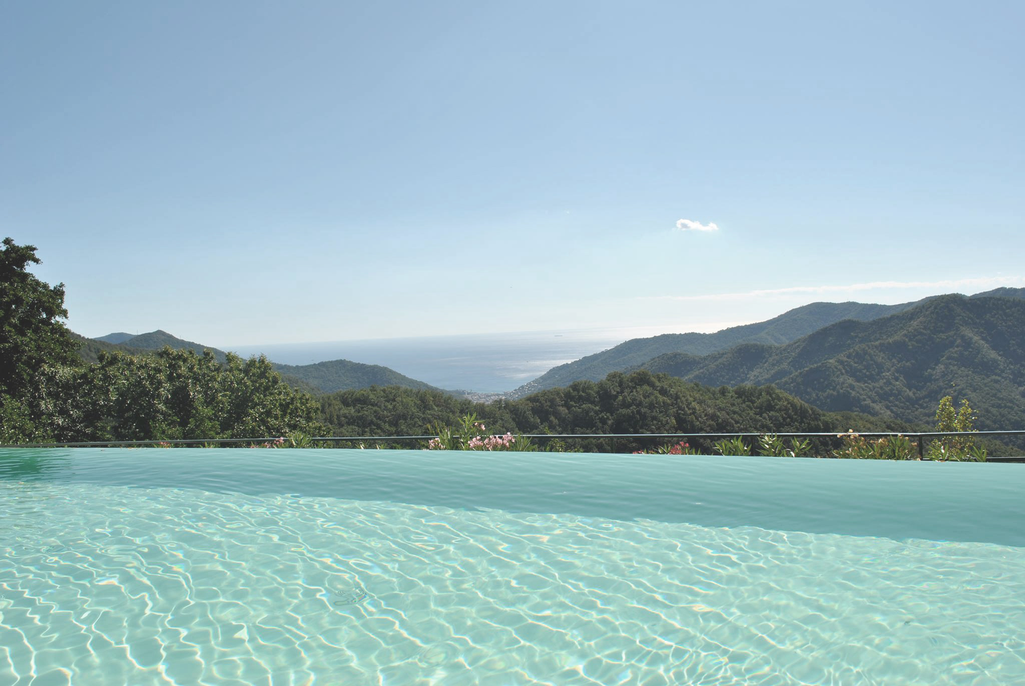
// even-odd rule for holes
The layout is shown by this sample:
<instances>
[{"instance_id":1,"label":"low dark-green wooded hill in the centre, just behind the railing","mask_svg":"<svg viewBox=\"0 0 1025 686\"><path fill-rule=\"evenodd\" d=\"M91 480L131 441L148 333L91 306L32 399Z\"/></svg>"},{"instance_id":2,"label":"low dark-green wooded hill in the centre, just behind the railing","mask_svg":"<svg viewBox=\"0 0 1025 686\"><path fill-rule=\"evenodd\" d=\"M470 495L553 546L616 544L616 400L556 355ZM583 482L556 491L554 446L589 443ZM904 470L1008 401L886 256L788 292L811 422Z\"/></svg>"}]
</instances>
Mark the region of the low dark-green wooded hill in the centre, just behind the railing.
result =
<instances>
[{"instance_id":1,"label":"low dark-green wooded hill in the centre, just behind the railing","mask_svg":"<svg viewBox=\"0 0 1025 686\"><path fill-rule=\"evenodd\" d=\"M416 436L475 412L495 433L633 434L908 431L910 426L812 407L771 387L700 386L646 371L613 372L520 400L473 403L436 391L372 388L323 396L321 420L337 436ZM608 449L601 442L581 447ZM607 443L607 442L606 442ZM645 447L623 441L618 449Z\"/></svg>"}]
</instances>

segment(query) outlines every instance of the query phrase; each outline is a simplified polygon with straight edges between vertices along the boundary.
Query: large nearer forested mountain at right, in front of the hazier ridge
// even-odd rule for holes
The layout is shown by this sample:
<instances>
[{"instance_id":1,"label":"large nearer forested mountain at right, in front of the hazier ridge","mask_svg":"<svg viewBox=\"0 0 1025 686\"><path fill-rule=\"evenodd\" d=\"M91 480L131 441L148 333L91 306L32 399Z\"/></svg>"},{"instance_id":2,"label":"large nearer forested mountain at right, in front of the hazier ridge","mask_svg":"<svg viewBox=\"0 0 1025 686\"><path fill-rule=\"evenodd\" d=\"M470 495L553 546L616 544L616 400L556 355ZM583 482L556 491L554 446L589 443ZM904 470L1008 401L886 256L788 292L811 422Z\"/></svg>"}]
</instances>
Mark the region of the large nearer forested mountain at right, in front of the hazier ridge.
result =
<instances>
[{"instance_id":1,"label":"large nearer forested mountain at right, in front of the hazier ridge","mask_svg":"<svg viewBox=\"0 0 1025 686\"><path fill-rule=\"evenodd\" d=\"M980 294L981 295L981 294ZM846 320L782 346L669 353L639 368L710 386L773 385L827 411L932 421L968 398L979 429L1025 416L1025 299L942 295L871 321Z\"/></svg>"}]
</instances>

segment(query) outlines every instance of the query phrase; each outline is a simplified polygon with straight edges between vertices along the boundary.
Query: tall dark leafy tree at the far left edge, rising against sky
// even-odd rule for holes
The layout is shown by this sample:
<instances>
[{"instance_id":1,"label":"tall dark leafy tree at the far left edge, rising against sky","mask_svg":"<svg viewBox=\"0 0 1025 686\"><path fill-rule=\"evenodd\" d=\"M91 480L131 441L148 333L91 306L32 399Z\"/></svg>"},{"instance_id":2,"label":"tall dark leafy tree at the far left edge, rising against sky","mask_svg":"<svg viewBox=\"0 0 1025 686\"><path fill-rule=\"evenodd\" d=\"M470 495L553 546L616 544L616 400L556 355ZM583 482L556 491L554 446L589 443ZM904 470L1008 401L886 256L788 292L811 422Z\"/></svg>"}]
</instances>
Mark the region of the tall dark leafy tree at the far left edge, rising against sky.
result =
<instances>
[{"instance_id":1,"label":"tall dark leafy tree at the far left edge, rising against sky","mask_svg":"<svg viewBox=\"0 0 1025 686\"><path fill-rule=\"evenodd\" d=\"M79 365L78 342L60 320L64 284L50 287L29 272L36 246L3 240L0 250L0 441L31 440L45 423L34 402L44 369Z\"/></svg>"}]
</instances>

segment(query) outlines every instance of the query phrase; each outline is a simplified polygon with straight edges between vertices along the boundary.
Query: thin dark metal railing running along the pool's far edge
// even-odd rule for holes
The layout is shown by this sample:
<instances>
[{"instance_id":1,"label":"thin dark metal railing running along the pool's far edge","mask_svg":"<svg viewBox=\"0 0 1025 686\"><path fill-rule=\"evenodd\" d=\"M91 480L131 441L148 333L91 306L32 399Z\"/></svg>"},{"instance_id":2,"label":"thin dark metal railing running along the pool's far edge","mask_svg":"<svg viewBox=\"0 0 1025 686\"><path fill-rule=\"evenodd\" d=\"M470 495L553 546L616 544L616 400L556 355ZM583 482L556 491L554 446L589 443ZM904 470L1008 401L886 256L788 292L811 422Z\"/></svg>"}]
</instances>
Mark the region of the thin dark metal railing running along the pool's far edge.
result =
<instances>
[{"instance_id":1,"label":"thin dark metal railing running along the pool's far edge","mask_svg":"<svg viewBox=\"0 0 1025 686\"><path fill-rule=\"evenodd\" d=\"M697 433L674 433L674 434L517 434L531 440L599 440L609 442L609 452L615 453L617 443L624 442L653 442L657 440L682 440L682 439L734 439L748 438L756 440L763 436L774 436L777 438L819 438L819 439L840 439L845 436L858 436L863 438L887 438L902 436L907 439L916 440L918 446L918 457L926 459L926 442L930 439L938 439L948 436L966 436L971 438L986 438L997 436L1025 436L1025 430L1015 431L974 431L974 432L852 432L850 434L837 432L777 432L777 433L719 433L719 434L697 434ZM327 447L324 444L331 444L332 448L352 447L352 444L381 444L381 443L406 443L422 442L438 438L435 435L424 434L417 436L312 436L306 440L311 443L320 444L318 447ZM247 446L273 445L282 440L282 437L273 436L264 438L214 438L214 439L167 439L167 440L147 440L147 441L79 441L71 443L18 443L0 445L0 448L106 448L106 447L151 447L151 446L209 446L236 444ZM288 440L288 439L285 439ZM342 445L339 445L342 444ZM1023 451L1025 452L1025 451ZM987 457L987 461L1025 462L1025 455L1017 457Z\"/></svg>"}]
</instances>

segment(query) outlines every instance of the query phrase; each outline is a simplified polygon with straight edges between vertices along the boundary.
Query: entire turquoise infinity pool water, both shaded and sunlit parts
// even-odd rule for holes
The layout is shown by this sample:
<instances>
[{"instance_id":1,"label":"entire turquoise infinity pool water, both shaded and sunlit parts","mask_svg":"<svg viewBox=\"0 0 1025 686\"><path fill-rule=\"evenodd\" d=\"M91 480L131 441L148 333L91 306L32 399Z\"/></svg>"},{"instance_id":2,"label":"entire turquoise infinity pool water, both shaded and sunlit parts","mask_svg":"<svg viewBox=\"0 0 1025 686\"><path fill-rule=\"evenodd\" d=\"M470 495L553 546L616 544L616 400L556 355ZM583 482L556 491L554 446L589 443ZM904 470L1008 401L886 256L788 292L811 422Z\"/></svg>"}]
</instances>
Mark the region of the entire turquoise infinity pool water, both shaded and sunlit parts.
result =
<instances>
[{"instance_id":1,"label":"entire turquoise infinity pool water, both shaded and sunlit parts","mask_svg":"<svg viewBox=\"0 0 1025 686\"><path fill-rule=\"evenodd\" d=\"M0 685L1025 683L1025 467L0 450Z\"/></svg>"}]
</instances>

